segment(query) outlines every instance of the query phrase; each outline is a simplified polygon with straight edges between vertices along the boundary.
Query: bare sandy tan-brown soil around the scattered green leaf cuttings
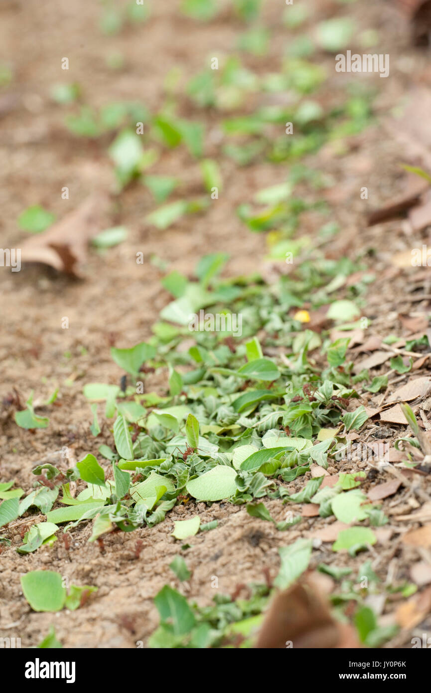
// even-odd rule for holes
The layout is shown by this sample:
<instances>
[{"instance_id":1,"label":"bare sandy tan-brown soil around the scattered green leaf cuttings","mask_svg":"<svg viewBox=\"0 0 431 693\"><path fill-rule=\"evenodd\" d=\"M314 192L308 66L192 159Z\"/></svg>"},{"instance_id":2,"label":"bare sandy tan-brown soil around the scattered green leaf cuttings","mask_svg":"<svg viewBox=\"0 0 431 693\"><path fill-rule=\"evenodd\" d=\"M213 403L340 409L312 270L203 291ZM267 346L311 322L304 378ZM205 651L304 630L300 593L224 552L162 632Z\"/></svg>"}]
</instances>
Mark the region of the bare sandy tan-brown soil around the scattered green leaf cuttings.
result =
<instances>
[{"instance_id":1,"label":"bare sandy tan-brown soil around the scattered green leaf cuttings","mask_svg":"<svg viewBox=\"0 0 431 693\"><path fill-rule=\"evenodd\" d=\"M1 119L0 227L4 247L19 247L25 234L17 229L16 219L30 204L46 204L60 218L75 209L90 191L109 191L114 183L107 142L89 146L85 140L74 138L64 128L61 107L49 98L51 85L62 81L63 56L69 57L71 79L82 85L90 105L141 100L154 112L164 98L162 85L170 69L181 67L186 78L190 78L201 69L209 52L231 50L236 27L230 20L221 16L210 24L200 24L179 17L177 4L166 0L154 3L152 17L144 27L127 28L114 37L106 37L97 29L97 3L45 0L29 10L26 3L17 0L1 8L2 60L12 63L15 78L10 91L17 98L16 107ZM286 37L279 24L278 4L269 2L265 10L273 33L269 54L263 60L249 59L257 72L269 71L279 63L283 52ZM425 272L418 274L417 268L394 267L391 257L406 247L416 247L423 238L418 234L414 240L406 238L402 222L368 229L364 218L369 209L403 192L404 178L398 167L402 151L394 137L387 134L385 122L392 117L391 109L403 103L413 82L420 80L425 57L411 48L407 24L389 4L370 2L365 3L365 8L366 11L364 3L353 6L358 28L378 28L385 46L383 52L396 56L390 78L367 76L378 89L374 103L376 123L360 135L346 138L345 150L337 152L335 143L331 143L315 157L309 157L307 163L333 180L333 186L324 195L331 205L331 218L340 223L342 234L331 252L334 256L367 258L370 272L376 274L367 297L368 315L373 320L370 336L396 333L407 337L409 330L398 314L426 313L429 305L428 300L412 304L409 291L418 285L411 287L409 281L420 282L423 277L421 291L426 294L428 277L425 278ZM315 3L315 18L319 17L326 17L326 3ZM120 73L106 67L108 47L109 51L125 55L125 68ZM333 58L322 53L322 63L325 62L333 71ZM328 99L332 96L331 87L333 93L343 89L342 81L335 80L335 72L328 84ZM255 103L258 98L253 96ZM248 105L250 110L255 103ZM183 108L184 115L193 112L190 104L184 103ZM217 123L211 122L212 118L208 116L206 122L210 132L208 153L216 158ZM187 273L197 258L221 249L231 256L228 274L268 271L263 236L250 234L235 209L240 202L252 199L258 189L280 182L285 166L259 163L238 169L227 159L220 160L220 165L225 190L217 204L204 216L184 218L167 231L155 231L144 220L154 207L146 188L139 183L127 188L112 210L111 222L127 226L129 237L103 256L91 252L83 281L71 281L40 266L24 266L16 274L1 268L0 396L6 397L16 387L23 399L32 389L37 398L46 398L55 387L60 387L58 406L52 408L46 430L32 434L19 429L8 408L3 407L2 481L15 479L27 489L31 468L37 462L55 460L62 446L68 446L76 459L81 459L86 453L97 454L101 442L112 444L112 433L106 425L97 439L90 435L89 404L82 395L82 385L118 383L121 371L109 356L110 344L130 347L150 336L150 326L169 300L159 283L161 272L150 263L152 254L167 261L170 269ZM191 164L182 148L164 153L157 173L181 175L182 191L188 194L199 186L199 168ZM69 200L61 198L64 185L69 186ZM362 186L369 189L368 200L360 199ZM317 213L305 216L304 231L310 233L326 220ZM144 265L135 261L138 251L146 257ZM61 327L64 316L69 317L66 330ZM430 374L427 362L419 372ZM409 377L407 374L405 380ZM157 374L152 385L164 392L166 374ZM369 406L375 405L380 396L375 396ZM406 430L405 426L389 424L381 437L378 430L382 425L370 419L362 439L372 440L378 435L378 440L392 442ZM335 474L358 468L368 472L371 467L366 462L344 462L328 471ZM379 472L367 482L365 490L389 478ZM431 484L426 477L418 479L414 478L414 483L420 484L425 498L431 493ZM294 482L292 489L303 484L304 480ZM421 561L430 565L431 555L429 547L404 545L402 541L406 528L421 526L420 522L397 520L398 514L417 510L409 487L395 498L383 501L389 525L378 529L379 541L371 559L380 579L385 580L390 571L398 581L411 580L412 564ZM267 505L274 518L283 519L285 506L281 501ZM193 571L190 585L184 588L189 590L188 596L200 604L209 603L214 593L213 576L218 577L221 592L233 593L238 584L262 581L265 568L276 574L277 550L286 542L283 532L277 532L271 523L250 517L243 507L228 503L211 507L202 503L198 510L202 523L218 519L219 524L217 529L195 536L186 552L188 567ZM139 640L146 642L158 622L153 597L166 583L178 586L168 567L178 552L177 543L170 536L173 521L192 514L193 502L188 507L175 507L164 523L152 529L108 535L103 552L97 543L87 543L91 528L84 524L72 530L69 552L58 541L52 548L42 547L21 556L15 552L16 545L21 543L17 527L12 546L0 556L1 633L19 633L23 647L37 644L50 624L55 625L64 647L127 648L136 647ZM290 531L289 540L311 536L333 520L304 518ZM143 540L143 550L137 558L134 547L138 538ZM317 555L313 554L314 564L332 560L331 543L322 543ZM345 556L342 560L356 569L363 556ZM337 563L340 565L340 556ZM96 585L98 592L85 608L71 613L34 613L21 593L19 577L38 568L57 570L77 584ZM394 595L394 600L398 598ZM415 629L420 633L430 630L430 615L401 631L388 646L410 643Z\"/></svg>"}]
</instances>

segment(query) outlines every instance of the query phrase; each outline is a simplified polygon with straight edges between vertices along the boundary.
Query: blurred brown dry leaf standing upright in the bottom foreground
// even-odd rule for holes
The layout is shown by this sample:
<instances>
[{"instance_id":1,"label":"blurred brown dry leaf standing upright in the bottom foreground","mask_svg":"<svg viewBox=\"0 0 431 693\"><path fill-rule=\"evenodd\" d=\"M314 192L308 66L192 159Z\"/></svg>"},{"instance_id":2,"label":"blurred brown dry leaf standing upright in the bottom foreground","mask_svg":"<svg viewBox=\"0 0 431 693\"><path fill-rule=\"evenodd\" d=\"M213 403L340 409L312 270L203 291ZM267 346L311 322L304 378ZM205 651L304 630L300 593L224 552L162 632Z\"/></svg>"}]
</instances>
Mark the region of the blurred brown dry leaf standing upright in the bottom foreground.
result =
<instances>
[{"instance_id":1,"label":"blurred brown dry leaf standing upright in the bottom foreground","mask_svg":"<svg viewBox=\"0 0 431 693\"><path fill-rule=\"evenodd\" d=\"M258 633L259 649L360 647L353 629L340 628L319 583L306 576L301 584L277 593Z\"/></svg>"}]
</instances>

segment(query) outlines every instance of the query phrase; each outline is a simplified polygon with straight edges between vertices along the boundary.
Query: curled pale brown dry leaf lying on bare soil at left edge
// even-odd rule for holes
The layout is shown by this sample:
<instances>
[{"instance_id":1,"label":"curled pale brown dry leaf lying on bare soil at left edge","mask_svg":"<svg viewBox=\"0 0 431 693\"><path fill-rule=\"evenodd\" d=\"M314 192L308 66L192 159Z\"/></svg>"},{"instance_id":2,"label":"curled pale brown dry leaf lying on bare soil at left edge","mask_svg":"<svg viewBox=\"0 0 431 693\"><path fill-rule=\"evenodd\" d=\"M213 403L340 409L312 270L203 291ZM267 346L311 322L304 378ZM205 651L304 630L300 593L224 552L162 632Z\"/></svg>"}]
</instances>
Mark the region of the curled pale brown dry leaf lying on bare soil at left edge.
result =
<instances>
[{"instance_id":1,"label":"curled pale brown dry leaf lying on bare soil at left edge","mask_svg":"<svg viewBox=\"0 0 431 693\"><path fill-rule=\"evenodd\" d=\"M79 277L79 265L87 257L88 242L106 226L109 198L94 193L43 234L21 244L21 262L43 263L58 272Z\"/></svg>"}]
</instances>

